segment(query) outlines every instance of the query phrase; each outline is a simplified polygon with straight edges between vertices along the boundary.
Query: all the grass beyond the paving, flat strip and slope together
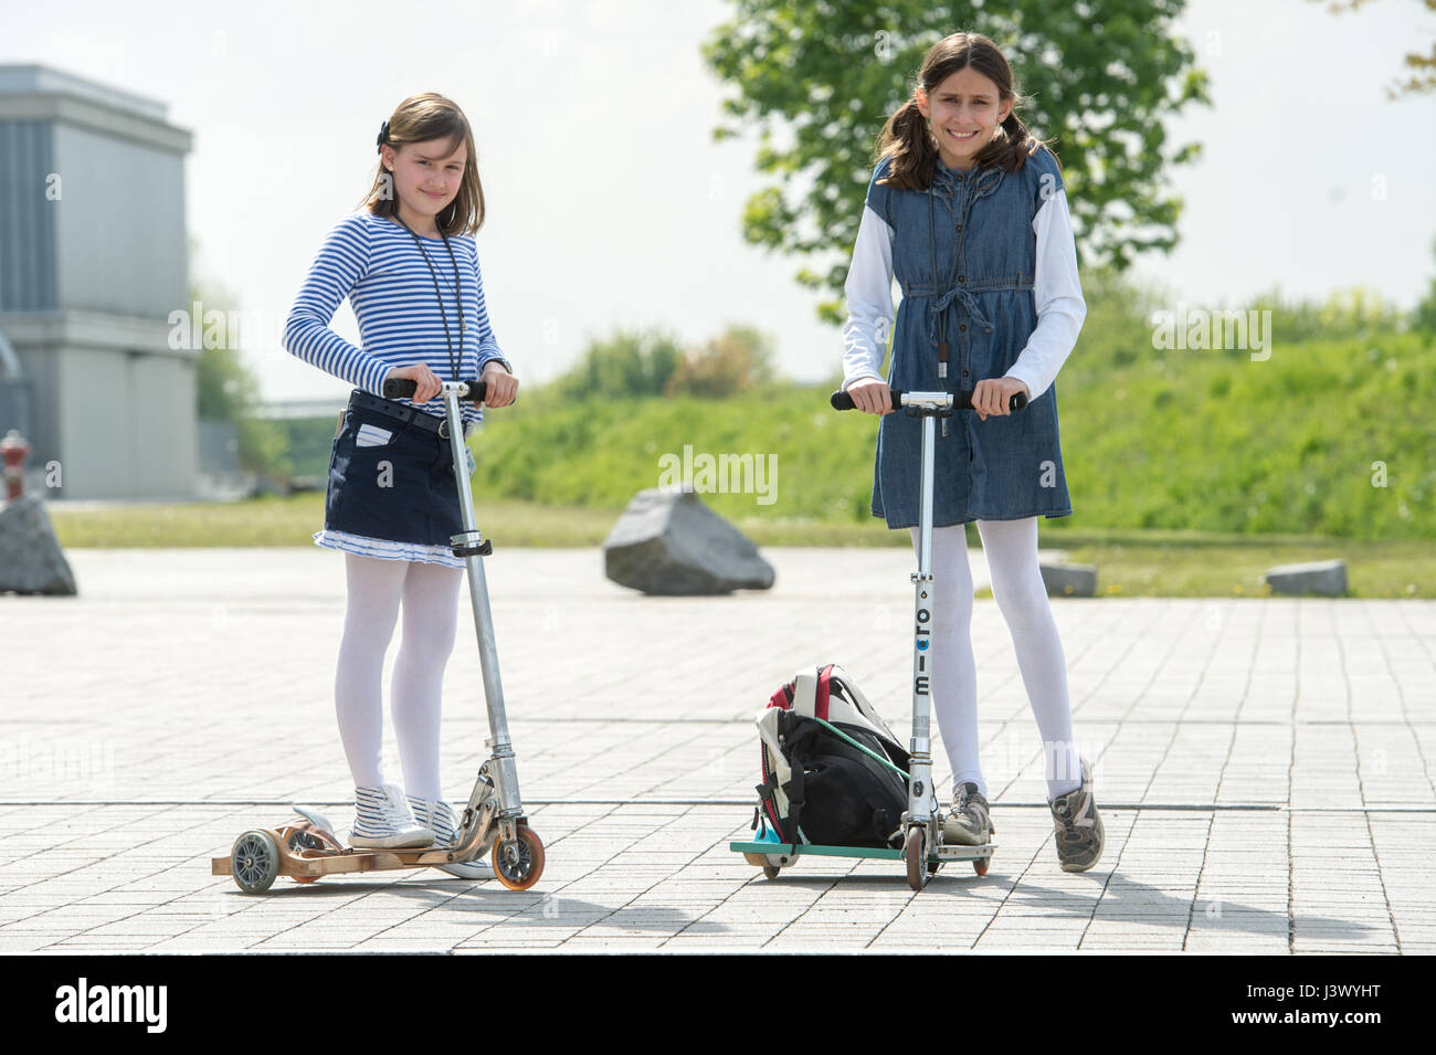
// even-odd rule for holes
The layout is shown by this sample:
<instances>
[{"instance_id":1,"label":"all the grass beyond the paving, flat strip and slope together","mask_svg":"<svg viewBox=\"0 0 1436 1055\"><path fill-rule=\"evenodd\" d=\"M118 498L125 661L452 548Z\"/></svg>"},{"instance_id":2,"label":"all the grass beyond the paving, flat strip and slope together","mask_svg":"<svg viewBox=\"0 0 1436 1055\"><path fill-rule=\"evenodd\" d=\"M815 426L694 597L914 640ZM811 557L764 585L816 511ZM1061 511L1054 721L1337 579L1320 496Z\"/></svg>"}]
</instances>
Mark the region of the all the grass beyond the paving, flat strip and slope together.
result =
<instances>
[{"instance_id":1,"label":"all the grass beyond the paving, flat strip and slope together","mask_svg":"<svg viewBox=\"0 0 1436 1055\"><path fill-rule=\"evenodd\" d=\"M1103 596L1262 596L1267 568L1335 557L1351 596L1436 596L1430 333L1278 311L1254 359L1157 347L1153 304L1117 287L1097 283L1088 307L1057 382L1076 515L1044 518L1040 535L1096 564ZM908 547L869 512L877 422L833 413L827 392L527 390L472 441L480 527L500 548L599 545L675 462L696 482L698 461L747 455L735 492L704 501L760 545ZM333 421L286 428L296 472L323 479ZM323 495L50 512L67 547L310 545Z\"/></svg>"}]
</instances>

